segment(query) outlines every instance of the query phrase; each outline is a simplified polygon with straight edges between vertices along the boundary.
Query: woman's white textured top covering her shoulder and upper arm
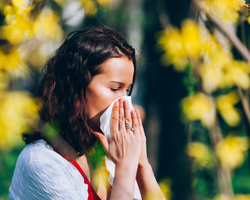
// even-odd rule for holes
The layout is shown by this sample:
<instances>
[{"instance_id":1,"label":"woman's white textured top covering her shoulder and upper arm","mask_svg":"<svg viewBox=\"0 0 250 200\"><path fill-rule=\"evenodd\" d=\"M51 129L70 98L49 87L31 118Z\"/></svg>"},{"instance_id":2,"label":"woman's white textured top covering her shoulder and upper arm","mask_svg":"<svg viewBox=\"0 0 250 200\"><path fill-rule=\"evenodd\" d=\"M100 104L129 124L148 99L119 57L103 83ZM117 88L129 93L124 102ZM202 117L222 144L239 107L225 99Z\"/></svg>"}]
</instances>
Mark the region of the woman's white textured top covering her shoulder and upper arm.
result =
<instances>
[{"instance_id":1,"label":"woman's white textured top covering her shoulder and upper arm","mask_svg":"<svg viewBox=\"0 0 250 200\"><path fill-rule=\"evenodd\" d=\"M78 170L44 140L27 145L18 157L9 199L88 199Z\"/></svg>"}]
</instances>

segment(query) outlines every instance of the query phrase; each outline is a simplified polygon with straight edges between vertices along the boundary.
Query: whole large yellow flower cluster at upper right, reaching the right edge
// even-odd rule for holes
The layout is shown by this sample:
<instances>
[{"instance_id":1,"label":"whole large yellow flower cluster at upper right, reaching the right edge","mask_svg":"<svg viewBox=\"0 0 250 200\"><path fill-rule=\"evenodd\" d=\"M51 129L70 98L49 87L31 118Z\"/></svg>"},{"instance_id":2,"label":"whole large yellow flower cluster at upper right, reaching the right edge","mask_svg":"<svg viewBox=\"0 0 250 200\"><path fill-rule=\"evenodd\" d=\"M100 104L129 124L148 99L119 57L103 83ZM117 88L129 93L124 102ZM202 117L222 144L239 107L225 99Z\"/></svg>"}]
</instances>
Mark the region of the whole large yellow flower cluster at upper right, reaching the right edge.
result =
<instances>
[{"instance_id":1,"label":"whole large yellow flower cluster at upper right, reaching the right edge","mask_svg":"<svg viewBox=\"0 0 250 200\"><path fill-rule=\"evenodd\" d=\"M201 77L205 92L234 85L249 88L250 65L234 60L215 36L194 21L184 21L181 30L168 27L160 35L158 44L165 51L162 62L173 64L178 71L184 71L186 63L190 62Z\"/></svg>"}]
</instances>

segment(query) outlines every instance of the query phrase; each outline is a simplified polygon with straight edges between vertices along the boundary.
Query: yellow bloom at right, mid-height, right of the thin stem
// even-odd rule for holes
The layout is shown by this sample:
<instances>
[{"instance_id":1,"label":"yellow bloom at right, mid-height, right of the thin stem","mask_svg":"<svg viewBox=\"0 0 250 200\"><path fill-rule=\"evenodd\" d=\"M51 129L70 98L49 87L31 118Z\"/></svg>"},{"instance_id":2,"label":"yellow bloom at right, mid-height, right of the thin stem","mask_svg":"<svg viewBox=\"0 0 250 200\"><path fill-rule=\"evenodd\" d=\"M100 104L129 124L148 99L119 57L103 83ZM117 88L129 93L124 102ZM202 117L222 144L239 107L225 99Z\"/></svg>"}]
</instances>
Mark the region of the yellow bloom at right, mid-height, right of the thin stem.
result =
<instances>
[{"instance_id":1,"label":"yellow bloom at right, mid-height, right of the thin stem","mask_svg":"<svg viewBox=\"0 0 250 200\"><path fill-rule=\"evenodd\" d=\"M239 102L239 96L236 91L226 95L220 95L216 99L216 106L225 122L230 126L237 126L240 123L240 114L234 107Z\"/></svg>"}]
</instances>

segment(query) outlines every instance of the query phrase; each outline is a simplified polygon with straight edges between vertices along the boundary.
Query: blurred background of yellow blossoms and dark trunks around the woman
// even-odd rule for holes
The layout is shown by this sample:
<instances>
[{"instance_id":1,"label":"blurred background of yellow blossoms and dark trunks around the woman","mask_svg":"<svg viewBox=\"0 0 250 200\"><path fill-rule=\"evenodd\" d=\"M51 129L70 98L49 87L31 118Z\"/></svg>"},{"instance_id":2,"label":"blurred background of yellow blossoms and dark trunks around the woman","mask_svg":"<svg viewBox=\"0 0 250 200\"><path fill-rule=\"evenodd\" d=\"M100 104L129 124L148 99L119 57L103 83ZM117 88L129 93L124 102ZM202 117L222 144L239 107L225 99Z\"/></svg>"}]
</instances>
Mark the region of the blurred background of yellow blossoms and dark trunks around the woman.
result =
<instances>
[{"instance_id":1,"label":"blurred background of yellow blossoms and dark trunks around the woman","mask_svg":"<svg viewBox=\"0 0 250 200\"><path fill-rule=\"evenodd\" d=\"M121 31L136 48L133 103L167 199L250 199L250 17L244 0L1 0L0 199L39 120L39 72L67 34Z\"/></svg>"}]
</instances>

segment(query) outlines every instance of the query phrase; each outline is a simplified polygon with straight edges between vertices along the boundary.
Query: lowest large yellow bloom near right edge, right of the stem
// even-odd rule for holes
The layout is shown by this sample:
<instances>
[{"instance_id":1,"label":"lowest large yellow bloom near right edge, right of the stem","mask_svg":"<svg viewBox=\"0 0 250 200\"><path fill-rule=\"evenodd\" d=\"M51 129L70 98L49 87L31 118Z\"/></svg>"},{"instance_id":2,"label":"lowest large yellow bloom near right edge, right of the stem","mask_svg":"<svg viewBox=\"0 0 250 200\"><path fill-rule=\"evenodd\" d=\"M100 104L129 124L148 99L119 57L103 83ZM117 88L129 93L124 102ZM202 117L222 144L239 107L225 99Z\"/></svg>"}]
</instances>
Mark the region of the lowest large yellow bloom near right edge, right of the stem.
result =
<instances>
[{"instance_id":1,"label":"lowest large yellow bloom near right edge, right of the stem","mask_svg":"<svg viewBox=\"0 0 250 200\"><path fill-rule=\"evenodd\" d=\"M248 140L247 137L229 135L216 145L215 152L223 167L228 167L233 170L243 163L243 152L249 148Z\"/></svg>"}]
</instances>

